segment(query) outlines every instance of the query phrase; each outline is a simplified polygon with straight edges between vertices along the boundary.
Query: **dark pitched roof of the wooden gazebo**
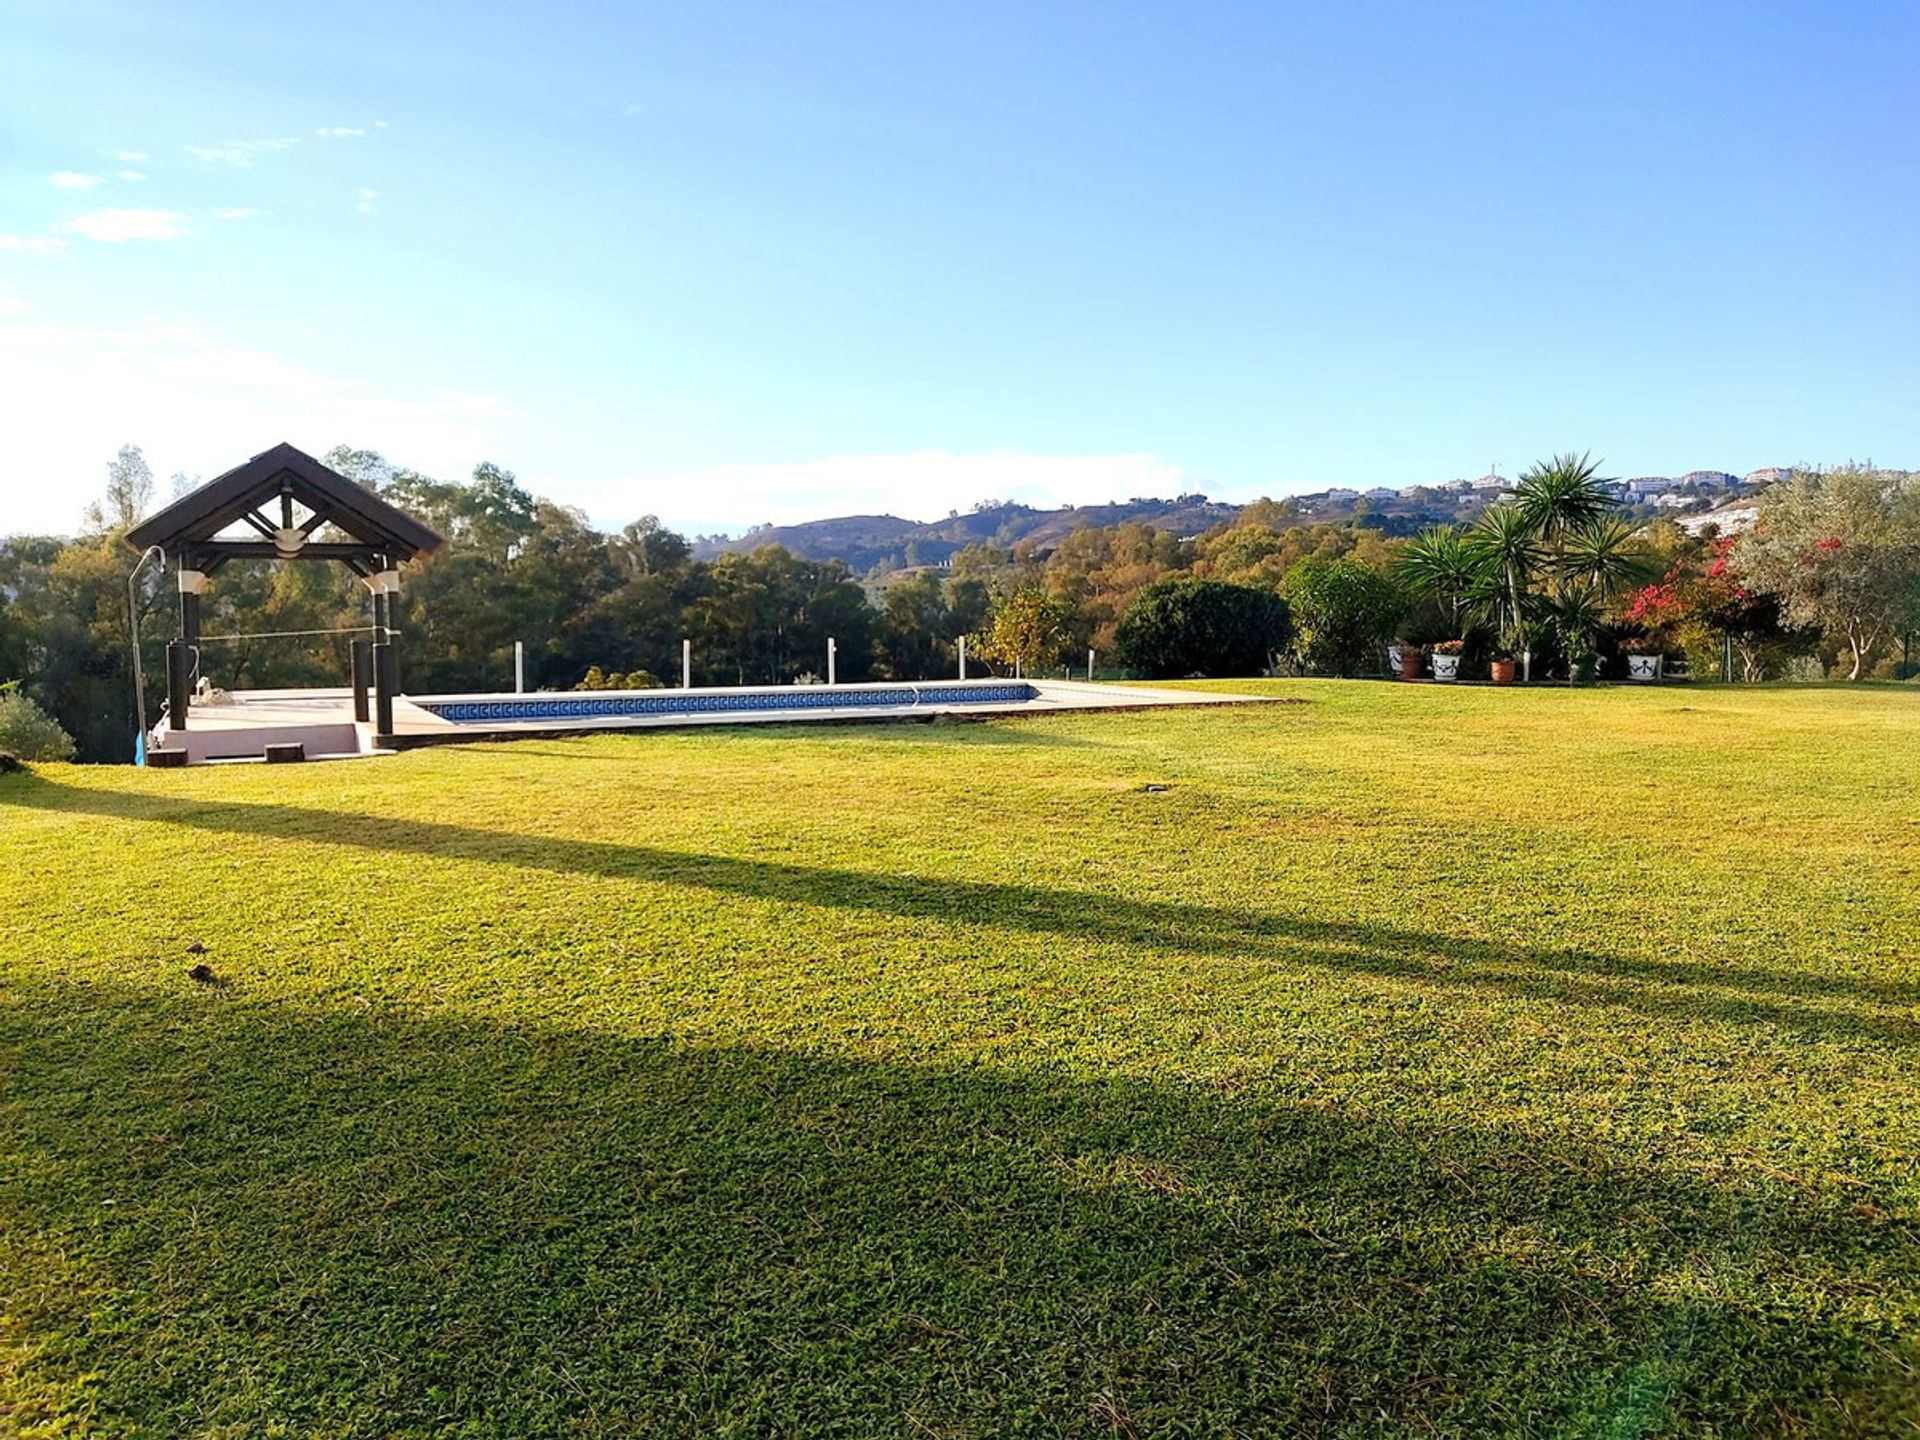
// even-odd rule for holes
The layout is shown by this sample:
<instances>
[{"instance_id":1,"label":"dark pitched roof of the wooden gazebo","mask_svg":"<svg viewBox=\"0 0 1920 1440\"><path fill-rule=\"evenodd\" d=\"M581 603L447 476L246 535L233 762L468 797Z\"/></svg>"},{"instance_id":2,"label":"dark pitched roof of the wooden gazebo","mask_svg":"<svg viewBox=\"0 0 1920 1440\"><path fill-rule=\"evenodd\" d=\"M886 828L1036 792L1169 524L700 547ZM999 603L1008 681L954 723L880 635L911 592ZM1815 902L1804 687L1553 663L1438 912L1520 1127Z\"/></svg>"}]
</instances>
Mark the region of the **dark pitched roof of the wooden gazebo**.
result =
<instances>
[{"instance_id":1,"label":"dark pitched roof of the wooden gazebo","mask_svg":"<svg viewBox=\"0 0 1920 1440\"><path fill-rule=\"evenodd\" d=\"M282 503L280 524L259 515L275 501ZM292 503L307 511L300 526L290 524ZM248 522L261 538L219 538L238 522ZM305 543L321 526L348 536L348 543ZM275 540L286 528L301 532L294 551L301 559L346 561L363 572L430 555L445 543L411 515L282 442L150 515L127 532L127 545L140 551L159 545L190 568L196 561L211 561L202 568L213 568L230 559L286 559L290 551Z\"/></svg>"}]
</instances>

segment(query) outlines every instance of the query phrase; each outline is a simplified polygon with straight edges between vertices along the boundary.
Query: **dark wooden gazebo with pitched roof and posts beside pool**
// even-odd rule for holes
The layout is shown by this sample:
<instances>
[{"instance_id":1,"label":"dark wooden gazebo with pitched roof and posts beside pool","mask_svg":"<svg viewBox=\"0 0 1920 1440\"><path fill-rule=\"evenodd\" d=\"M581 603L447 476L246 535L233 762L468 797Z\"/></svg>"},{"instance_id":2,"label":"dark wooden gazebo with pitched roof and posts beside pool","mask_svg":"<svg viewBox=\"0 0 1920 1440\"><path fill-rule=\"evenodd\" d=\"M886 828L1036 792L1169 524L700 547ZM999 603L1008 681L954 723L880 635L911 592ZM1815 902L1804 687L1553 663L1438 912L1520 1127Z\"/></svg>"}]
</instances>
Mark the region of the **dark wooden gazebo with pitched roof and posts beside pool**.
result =
<instances>
[{"instance_id":1,"label":"dark wooden gazebo with pitched roof and posts beside pool","mask_svg":"<svg viewBox=\"0 0 1920 1440\"><path fill-rule=\"evenodd\" d=\"M372 645L355 639L353 718L394 733L394 655L399 566L430 555L432 530L294 445L275 445L173 501L127 532L136 551L159 549L179 576L180 637L167 645L167 728L186 730L200 651L200 595L228 561L340 561L372 591Z\"/></svg>"}]
</instances>

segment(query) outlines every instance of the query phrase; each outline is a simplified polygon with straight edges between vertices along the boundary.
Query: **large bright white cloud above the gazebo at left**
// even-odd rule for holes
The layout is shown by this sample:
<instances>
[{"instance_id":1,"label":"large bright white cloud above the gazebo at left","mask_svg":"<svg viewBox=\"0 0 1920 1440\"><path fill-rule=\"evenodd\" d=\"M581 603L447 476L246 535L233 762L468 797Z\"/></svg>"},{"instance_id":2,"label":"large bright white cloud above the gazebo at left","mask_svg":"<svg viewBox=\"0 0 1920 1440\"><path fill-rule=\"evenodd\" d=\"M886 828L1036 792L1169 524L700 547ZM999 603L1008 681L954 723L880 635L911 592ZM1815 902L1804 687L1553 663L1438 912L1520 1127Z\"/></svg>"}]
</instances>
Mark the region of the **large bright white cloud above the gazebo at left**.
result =
<instances>
[{"instance_id":1,"label":"large bright white cloud above the gazebo at left","mask_svg":"<svg viewBox=\"0 0 1920 1440\"><path fill-rule=\"evenodd\" d=\"M165 323L0 321L0 534L73 530L121 440L136 442L156 474L219 474L290 440L313 455L369 445L463 476L503 453L513 419L497 396L392 392Z\"/></svg>"}]
</instances>

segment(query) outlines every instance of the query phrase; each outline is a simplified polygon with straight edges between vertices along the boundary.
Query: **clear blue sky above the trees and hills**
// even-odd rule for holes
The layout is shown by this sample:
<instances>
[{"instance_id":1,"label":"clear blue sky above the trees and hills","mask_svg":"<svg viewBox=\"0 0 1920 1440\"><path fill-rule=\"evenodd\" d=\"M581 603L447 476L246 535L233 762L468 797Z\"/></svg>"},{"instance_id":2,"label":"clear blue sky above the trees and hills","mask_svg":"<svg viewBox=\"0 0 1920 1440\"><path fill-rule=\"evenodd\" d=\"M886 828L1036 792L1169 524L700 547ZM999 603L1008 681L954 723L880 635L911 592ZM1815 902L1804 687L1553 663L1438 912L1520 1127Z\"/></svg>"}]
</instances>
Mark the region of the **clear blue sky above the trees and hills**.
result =
<instances>
[{"instance_id":1,"label":"clear blue sky above the trees and hills","mask_svg":"<svg viewBox=\"0 0 1920 1440\"><path fill-rule=\"evenodd\" d=\"M1920 8L0 0L0 532L1920 465Z\"/></svg>"}]
</instances>

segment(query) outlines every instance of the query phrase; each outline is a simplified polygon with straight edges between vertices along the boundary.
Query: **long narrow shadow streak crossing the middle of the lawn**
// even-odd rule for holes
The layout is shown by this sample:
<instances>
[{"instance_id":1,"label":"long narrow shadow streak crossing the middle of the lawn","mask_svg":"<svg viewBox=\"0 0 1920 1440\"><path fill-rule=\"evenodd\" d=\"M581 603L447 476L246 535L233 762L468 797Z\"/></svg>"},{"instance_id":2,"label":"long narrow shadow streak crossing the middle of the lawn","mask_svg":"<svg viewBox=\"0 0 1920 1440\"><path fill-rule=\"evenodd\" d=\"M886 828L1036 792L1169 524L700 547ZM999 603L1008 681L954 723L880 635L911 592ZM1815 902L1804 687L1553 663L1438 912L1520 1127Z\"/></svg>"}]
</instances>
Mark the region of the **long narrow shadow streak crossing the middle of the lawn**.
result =
<instances>
[{"instance_id":1,"label":"long narrow shadow streak crossing the middle of the lawn","mask_svg":"<svg viewBox=\"0 0 1920 1440\"><path fill-rule=\"evenodd\" d=\"M340 814L330 810L134 795L56 785L38 776L0 780L0 804L687 885L753 900L906 920L958 920L1252 964L1417 979L1463 993L1619 1006L1661 1018L1693 1014L1726 1023L1778 1025L1814 1039L1862 1039L1895 1046L1920 1041L1920 1023L1912 1014L1920 1006L1920 985L1899 979L1528 947L1357 920L1309 920L1254 908L1142 900L1041 885L833 870L651 845L518 835L432 820L355 816L351 826L344 826Z\"/></svg>"}]
</instances>

